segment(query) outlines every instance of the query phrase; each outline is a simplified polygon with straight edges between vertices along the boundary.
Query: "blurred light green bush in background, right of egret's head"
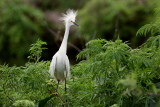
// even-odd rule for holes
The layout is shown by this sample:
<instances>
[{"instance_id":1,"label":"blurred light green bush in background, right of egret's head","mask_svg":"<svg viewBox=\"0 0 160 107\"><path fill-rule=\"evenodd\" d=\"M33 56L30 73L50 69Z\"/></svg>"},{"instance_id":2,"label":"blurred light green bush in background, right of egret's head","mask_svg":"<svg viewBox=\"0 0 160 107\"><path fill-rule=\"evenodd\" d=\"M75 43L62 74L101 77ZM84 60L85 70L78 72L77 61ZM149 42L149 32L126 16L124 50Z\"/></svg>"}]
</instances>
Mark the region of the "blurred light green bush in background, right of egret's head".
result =
<instances>
[{"instance_id":1,"label":"blurred light green bush in background, right of egret's head","mask_svg":"<svg viewBox=\"0 0 160 107\"><path fill-rule=\"evenodd\" d=\"M146 20L153 18L151 5L150 0L90 0L79 11L79 17L83 19L79 21L80 33L87 40L94 34L97 38L114 40L119 35L130 40L134 47L138 41L135 32Z\"/></svg>"}]
</instances>

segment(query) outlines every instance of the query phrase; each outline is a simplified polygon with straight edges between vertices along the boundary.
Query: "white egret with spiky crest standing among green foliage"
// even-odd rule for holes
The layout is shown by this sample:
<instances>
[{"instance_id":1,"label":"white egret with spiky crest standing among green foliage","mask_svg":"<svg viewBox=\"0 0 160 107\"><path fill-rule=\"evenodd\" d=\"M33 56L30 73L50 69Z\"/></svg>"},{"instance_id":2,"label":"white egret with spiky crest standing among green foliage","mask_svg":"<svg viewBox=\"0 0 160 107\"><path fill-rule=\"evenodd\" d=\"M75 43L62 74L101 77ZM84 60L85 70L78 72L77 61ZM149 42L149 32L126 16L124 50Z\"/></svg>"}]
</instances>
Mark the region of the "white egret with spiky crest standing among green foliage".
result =
<instances>
[{"instance_id":1,"label":"white egret with spiky crest standing among green foliage","mask_svg":"<svg viewBox=\"0 0 160 107\"><path fill-rule=\"evenodd\" d=\"M65 92L66 92L66 78L69 76L70 72L69 59L68 56L66 55L67 41L68 41L70 27L72 25L79 26L75 22L76 15L77 11L69 9L67 10L66 14L63 14L63 17L60 18L60 20L63 20L65 23L64 38L59 50L52 58L52 62L50 64L50 69L49 69L50 74L52 76L54 75L54 78L57 81L57 89L59 82L65 81ZM57 89L56 89L56 94L58 94Z\"/></svg>"}]
</instances>

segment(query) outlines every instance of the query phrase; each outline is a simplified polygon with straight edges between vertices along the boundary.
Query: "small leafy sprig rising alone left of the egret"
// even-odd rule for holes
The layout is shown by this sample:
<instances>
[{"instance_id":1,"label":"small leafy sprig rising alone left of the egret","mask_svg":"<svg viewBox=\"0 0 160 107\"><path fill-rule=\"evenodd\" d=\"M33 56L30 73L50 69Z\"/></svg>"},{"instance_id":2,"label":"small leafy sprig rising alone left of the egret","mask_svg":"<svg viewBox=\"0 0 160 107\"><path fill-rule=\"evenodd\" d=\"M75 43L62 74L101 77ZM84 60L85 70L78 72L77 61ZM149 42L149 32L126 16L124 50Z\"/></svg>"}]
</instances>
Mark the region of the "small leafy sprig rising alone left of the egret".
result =
<instances>
[{"instance_id":1,"label":"small leafy sprig rising alone left of the egret","mask_svg":"<svg viewBox=\"0 0 160 107\"><path fill-rule=\"evenodd\" d=\"M29 50L31 55L28 56L28 58L33 59L35 62L39 62L39 59L41 58L42 50L46 49L46 48L42 48L42 45L47 45L47 43L39 39L35 44L32 44Z\"/></svg>"}]
</instances>

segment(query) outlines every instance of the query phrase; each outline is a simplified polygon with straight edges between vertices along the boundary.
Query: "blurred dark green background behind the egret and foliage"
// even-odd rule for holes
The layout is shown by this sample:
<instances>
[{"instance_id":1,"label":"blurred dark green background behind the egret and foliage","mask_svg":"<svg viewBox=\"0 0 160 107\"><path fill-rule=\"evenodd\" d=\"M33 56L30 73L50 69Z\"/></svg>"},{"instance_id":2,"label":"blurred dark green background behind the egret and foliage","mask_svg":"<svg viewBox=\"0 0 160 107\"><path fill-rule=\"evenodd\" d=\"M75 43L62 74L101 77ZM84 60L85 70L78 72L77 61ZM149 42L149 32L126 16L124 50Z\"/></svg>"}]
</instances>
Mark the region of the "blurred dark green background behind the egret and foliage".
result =
<instances>
[{"instance_id":1,"label":"blurred dark green background behind the egret and foliage","mask_svg":"<svg viewBox=\"0 0 160 107\"><path fill-rule=\"evenodd\" d=\"M132 48L147 37L136 37L137 30L153 20L159 0L0 0L0 64L23 65L30 45L47 42L41 60L51 60L64 34L58 19L67 9L78 10L68 43L71 64L85 43L96 38L115 40L118 36Z\"/></svg>"}]
</instances>

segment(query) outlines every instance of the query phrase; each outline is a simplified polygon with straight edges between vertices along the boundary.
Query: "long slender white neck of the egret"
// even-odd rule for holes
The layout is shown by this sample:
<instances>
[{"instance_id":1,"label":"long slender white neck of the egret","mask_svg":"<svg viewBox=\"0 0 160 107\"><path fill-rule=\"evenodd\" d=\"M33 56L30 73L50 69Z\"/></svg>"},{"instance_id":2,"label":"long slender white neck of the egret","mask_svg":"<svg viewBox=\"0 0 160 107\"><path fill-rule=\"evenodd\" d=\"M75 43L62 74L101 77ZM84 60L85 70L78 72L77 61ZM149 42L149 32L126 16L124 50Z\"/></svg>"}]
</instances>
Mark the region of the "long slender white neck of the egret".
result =
<instances>
[{"instance_id":1,"label":"long slender white neck of the egret","mask_svg":"<svg viewBox=\"0 0 160 107\"><path fill-rule=\"evenodd\" d=\"M62 41L61 46L59 48L59 51L63 52L64 54L66 54L66 52L67 52L67 41L68 41L69 29L70 29L70 26L66 23L63 41Z\"/></svg>"}]
</instances>

